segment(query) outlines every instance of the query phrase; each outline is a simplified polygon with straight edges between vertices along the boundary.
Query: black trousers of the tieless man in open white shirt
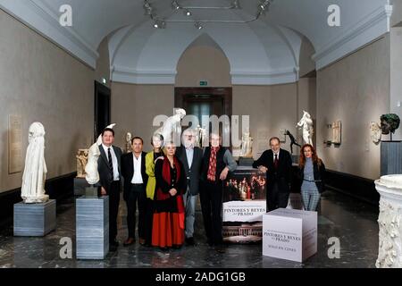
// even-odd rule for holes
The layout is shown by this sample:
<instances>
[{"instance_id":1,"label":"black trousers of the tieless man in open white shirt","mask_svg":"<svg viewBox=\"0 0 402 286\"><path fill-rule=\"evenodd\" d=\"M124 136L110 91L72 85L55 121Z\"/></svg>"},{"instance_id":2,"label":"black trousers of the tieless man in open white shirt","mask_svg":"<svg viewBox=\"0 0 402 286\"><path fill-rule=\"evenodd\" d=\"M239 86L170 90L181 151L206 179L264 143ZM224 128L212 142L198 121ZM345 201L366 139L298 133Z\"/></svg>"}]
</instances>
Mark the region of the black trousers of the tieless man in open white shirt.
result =
<instances>
[{"instance_id":1,"label":"black trousers of the tieless man in open white shirt","mask_svg":"<svg viewBox=\"0 0 402 286\"><path fill-rule=\"evenodd\" d=\"M130 193L126 200L127 204L127 228L129 237L136 238L136 213L138 204L138 238L145 239L145 214L147 206L147 193L145 184L131 184Z\"/></svg>"}]
</instances>

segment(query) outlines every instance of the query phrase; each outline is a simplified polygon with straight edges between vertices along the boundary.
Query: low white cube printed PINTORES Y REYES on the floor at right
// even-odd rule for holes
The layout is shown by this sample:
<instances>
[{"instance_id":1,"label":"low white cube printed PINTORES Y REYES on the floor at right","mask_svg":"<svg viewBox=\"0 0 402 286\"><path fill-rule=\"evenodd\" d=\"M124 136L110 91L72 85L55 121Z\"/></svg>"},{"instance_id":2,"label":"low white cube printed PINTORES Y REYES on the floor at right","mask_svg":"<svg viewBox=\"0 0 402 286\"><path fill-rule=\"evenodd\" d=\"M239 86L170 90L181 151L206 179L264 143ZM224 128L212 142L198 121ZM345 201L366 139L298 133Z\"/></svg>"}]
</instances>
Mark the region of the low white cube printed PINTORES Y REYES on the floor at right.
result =
<instances>
[{"instance_id":1,"label":"low white cube printed PINTORES Y REYES on the floor at right","mask_svg":"<svg viewBox=\"0 0 402 286\"><path fill-rule=\"evenodd\" d=\"M263 255L303 262L317 252L317 213L280 208L263 215Z\"/></svg>"}]
</instances>

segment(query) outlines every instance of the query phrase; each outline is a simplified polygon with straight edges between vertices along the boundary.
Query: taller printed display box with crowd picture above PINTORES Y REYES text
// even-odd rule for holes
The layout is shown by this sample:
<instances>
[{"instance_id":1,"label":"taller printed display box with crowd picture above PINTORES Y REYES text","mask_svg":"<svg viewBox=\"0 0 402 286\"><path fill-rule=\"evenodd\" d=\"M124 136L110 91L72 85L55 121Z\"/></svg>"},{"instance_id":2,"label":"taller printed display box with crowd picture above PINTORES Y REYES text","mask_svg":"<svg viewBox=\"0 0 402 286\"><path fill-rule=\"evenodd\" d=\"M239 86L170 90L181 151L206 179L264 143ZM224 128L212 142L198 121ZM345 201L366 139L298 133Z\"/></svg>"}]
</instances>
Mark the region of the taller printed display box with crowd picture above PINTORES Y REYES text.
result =
<instances>
[{"instance_id":1,"label":"taller printed display box with crowd picture above PINTORES Y REYES text","mask_svg":"<svg viewBox=\"0 0 402 286\"><path fill-rule=\"evenodd\" d=\"M263 240L266 213L266 175L252 167L239 166L223 187L223 240L249 243Z\"/></svg>"}]
</instances>

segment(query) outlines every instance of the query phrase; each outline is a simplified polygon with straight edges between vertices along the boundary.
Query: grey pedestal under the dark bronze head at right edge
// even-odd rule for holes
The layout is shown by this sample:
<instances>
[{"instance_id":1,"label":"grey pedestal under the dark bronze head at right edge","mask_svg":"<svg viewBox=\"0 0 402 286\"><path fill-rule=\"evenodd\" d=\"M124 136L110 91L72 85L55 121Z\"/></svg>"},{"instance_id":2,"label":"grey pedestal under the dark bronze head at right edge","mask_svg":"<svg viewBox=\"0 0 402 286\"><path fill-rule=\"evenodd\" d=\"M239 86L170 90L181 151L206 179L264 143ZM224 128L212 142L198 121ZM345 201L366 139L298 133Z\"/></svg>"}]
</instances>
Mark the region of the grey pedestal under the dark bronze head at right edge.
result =
<instances>
[{"instance_id":1,"label":"grey pedestal under the dark bronze head at right edge","mask_svg":"<svg viewBox=\"0 0 402 286\"><path fill-rule=\"evenodd\" d=\"M381 176L402 173L402 142L381 142Z\"/></svg>"}]
</instances>

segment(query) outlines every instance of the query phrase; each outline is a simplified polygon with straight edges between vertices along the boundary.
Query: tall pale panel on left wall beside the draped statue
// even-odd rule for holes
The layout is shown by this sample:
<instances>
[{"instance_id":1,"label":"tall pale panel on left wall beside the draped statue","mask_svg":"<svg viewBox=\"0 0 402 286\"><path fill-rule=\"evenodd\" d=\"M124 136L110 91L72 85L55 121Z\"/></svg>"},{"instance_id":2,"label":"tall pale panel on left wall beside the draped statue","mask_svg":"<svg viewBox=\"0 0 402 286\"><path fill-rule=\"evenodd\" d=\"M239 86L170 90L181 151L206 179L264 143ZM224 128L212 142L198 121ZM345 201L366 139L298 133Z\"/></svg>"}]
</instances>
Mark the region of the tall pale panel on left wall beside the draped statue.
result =
<instances>
[{"instance_id":1,"label":"tall pale panel on left wall beside the draped statue","mask_svg":"<svg viewBox=\"0 0 402 286\"><path fill-rule=\"evenodd\" d=\"M22 172L22 119L9 115L8 120L8 173Z\"/></svg>"}]
</instances>

